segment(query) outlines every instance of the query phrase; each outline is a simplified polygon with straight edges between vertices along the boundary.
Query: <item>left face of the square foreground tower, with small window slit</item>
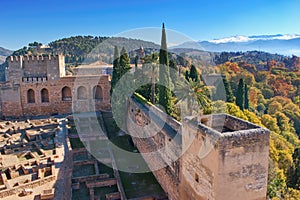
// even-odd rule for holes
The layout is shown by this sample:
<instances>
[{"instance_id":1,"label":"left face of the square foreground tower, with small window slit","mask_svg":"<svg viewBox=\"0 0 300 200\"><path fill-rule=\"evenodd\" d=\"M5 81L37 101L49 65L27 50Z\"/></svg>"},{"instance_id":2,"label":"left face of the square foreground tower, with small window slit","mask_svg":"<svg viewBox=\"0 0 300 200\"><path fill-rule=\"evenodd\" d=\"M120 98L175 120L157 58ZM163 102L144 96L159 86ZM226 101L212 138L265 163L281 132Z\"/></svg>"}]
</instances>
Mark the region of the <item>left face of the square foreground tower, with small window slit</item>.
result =
<instances>
[{"instance_id":1,"label":"left face of the square foreground tower, with small window slit","mask_svg":"<svg viewBox=\"0 0 300 200\"><path fill-rule=\"evenodd\" d=\"M212 130L197 123L183 122L180 199L216 199L219 156Z\"/></svg>"}]
</instances>

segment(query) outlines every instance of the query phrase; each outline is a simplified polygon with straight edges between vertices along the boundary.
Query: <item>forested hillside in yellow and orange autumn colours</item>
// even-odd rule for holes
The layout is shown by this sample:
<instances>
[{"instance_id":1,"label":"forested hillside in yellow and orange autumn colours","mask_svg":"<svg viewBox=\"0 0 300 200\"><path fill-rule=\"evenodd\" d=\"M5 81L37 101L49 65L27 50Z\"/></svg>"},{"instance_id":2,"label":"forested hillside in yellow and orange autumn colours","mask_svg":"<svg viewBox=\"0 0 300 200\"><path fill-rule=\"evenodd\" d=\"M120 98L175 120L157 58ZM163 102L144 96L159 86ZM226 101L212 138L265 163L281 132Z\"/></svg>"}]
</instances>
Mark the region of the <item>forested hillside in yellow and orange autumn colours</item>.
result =
<instances>
[{"instance_id":1,"label":"forested hillside in yellow and orange autumn colours","mask_svg":"<svg viewBox=\"0 0 300 200\"><path fill-rule=\"evenodd\" d=\"M261 65L257 67L251 63L250 56L247 60L242 60L243 57L241 55L238 62L227 61L205 69L224 75L227 102L216 99L212 102L212 112L226 111L267 127L271 131L268 196L271 199L300 199L298 58L290 58L292 63L287 62L289 59L260 61ZM253 56L252 60L256 59ZM218 87L214 91L218 91ZM244 95L242 100L241 93Z\"/></svg>"}]
</instances>

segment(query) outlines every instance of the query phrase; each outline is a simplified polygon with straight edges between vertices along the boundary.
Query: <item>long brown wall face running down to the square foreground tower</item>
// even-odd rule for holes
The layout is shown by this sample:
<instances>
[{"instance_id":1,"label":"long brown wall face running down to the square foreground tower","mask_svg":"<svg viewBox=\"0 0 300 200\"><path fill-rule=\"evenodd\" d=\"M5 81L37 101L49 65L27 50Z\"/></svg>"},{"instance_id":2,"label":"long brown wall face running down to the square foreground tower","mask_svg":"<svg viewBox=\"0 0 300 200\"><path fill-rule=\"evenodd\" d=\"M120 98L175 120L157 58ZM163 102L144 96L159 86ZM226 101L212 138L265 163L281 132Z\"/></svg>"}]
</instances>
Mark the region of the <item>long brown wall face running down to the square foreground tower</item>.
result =
<instances>
[{"instance_id":1,"label":"long brown wall face running down to the square foreground tower","mask_svg":"<svg viewBox=\"0 0 300 200\"><path fill-rule=\"evenodd\" d=\"M142 128L147 129L148 123L150 123L151 120L148 116L148 113L146 113L146 110L144 107L142 107L141 104L135 102L134 100L130 100L129 106L128 106L128 120L127 120L127 128L130 133L139 135L139 134L145 134L145 131L142 130ZM138 125L137 125L138 124ZM140 128L138 128L138 126ZM155 125L154 123L151 123L150 126L157 126L157 128L160 127L160 125ZM150 127L149 127L150 128ZM145 130L145 129L144 129ZM153 129L152 129L153 130ZM177 153L174 153L173 148L181 150L180 146L176 147L176 144L170 145L167 148L164 153L159 153L159 149L162 149L166 145L169 145L168 143L170 135L169 133L162 129L160 130L156 135L152 135L147 138L140 138L140 137L132 137L133 142L138 147L139 151L142 153L146 152L154 152L153 156L142 154L145 161L149 165L150 169L157 169L157 166L159 166L164 161L171 162L172 158L174 159L174 156L176 156ZM146 135L143 135L144 137ZM158 169L156 171L153 171L154 176L164 189L164 191L168 194L170 199L180 199L179 197L179 183L180 183L180 177L179 177L179 171L180 171L180 162L172 162L170 167L163 167L161 169Z\"/></svg>"}]
</instances>

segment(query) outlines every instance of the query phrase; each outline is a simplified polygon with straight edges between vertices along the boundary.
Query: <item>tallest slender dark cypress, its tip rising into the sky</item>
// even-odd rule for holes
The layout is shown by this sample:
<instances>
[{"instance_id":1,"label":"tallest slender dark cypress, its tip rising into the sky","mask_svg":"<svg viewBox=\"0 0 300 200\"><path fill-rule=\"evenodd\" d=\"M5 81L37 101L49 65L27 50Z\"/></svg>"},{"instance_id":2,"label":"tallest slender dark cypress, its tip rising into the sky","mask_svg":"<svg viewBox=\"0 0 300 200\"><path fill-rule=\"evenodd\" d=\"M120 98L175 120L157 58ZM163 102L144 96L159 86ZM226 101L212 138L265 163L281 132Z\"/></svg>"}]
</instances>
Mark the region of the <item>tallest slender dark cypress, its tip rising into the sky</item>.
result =
<instances>
[{"instance_id":1,"label":"tallest slender dark cypress, its tip rising into the sky","mask_svg":"<svg viewBox=\"0 0 300 200\"><path fill-rule=\"evenodd\" d=\"M159 87L159 104L164 107L168 114L171 113L171 91L170 91L170 72L168 62L167 40L165 25L162 27L161 46L159 51L159 81L163 85Z\"/></svg>"}]
</instances>

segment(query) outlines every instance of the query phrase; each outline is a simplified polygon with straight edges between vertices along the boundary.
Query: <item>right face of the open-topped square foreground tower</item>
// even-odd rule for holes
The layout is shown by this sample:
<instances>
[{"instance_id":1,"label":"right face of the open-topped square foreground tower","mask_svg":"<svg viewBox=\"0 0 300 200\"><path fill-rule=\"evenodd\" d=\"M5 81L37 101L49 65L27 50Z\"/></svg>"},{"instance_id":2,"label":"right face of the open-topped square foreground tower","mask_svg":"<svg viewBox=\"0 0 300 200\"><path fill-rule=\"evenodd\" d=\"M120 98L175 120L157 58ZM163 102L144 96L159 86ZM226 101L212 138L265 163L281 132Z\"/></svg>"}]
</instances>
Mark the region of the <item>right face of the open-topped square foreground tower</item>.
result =
<instances>
[{"instance_id":1,"label":"right face of the open-topped square foreground tower","mask_svg":"<svg viewBox=\"0 0 300 200\"><path fill-rule=\"evenodd\" d=\"M225 133L219 143L217 199L266 199L269 131Z\"/></svg>"}]
</instances>

